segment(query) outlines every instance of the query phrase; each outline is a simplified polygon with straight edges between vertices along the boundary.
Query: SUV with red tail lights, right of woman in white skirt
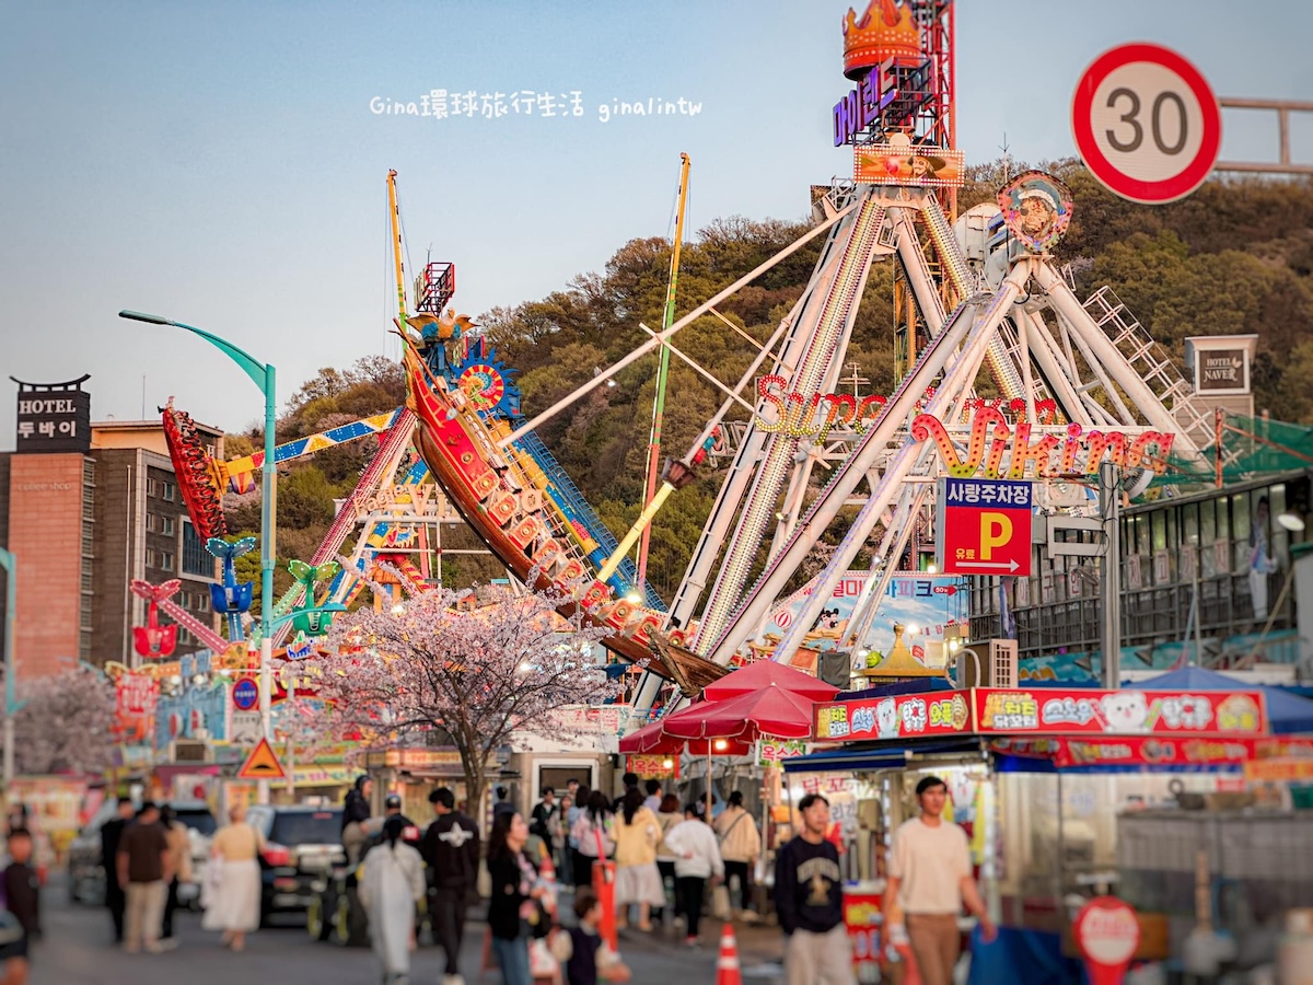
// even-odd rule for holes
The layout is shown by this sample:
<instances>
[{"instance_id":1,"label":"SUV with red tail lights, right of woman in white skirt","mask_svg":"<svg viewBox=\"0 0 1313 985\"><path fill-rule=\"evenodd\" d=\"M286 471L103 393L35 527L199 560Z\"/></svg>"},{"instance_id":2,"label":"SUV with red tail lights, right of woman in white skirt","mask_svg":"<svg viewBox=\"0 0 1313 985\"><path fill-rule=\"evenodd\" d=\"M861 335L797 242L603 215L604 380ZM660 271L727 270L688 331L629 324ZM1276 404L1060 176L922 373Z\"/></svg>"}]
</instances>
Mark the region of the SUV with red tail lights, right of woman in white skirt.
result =
<instances>
[{"instance_id":1,"label":"SUV with red tail lights, right of woman in white skirt","mask_svg":"<svg viewBox=\"0 0 1313 985\"><path fill-rule=\"evenodd\" d=\"M306 913L335 867L347 864L341 808L257 805L247 821L264 835L260 860L260 923L284 913Z\"/></svg>"}]
</instances>

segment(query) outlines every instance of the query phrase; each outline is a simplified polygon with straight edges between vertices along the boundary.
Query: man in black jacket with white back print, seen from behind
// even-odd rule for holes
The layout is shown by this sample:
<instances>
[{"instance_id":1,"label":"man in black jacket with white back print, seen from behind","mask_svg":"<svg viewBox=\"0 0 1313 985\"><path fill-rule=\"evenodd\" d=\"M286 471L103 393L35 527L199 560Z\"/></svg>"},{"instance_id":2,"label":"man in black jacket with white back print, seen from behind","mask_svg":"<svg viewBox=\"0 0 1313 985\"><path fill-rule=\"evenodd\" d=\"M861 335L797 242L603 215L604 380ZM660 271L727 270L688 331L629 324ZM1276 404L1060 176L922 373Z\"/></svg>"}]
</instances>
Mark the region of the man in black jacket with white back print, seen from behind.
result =
<instances>
[{"instance_id":1,"label":"man in black jacket with white back print, seen from behind","mask_svg":"<svg viewBox=\"0 0 1313 985\"><path fill-rule=\"evenodd\" d=\"M446 951L442 985L463 985L460 956L465 936L465 900L479 875L479 829L456 810L456 796L446 787L428 795L436 821L424 833L420 855L428 864L432 886L433 936Z\"/></svg>"}]
</instances>

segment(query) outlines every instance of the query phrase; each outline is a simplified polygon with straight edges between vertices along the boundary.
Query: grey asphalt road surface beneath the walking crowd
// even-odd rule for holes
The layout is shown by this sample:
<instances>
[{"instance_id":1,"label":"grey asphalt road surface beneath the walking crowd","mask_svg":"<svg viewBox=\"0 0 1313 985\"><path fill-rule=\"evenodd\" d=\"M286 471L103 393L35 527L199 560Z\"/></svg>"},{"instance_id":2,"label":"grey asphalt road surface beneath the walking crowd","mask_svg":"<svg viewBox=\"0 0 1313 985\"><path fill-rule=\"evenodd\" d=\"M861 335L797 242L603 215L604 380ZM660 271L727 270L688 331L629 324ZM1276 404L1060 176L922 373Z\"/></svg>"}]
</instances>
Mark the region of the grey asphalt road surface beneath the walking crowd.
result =
<instances>
[{"instance_id":1,"label":"grey asphalt road surface beneath the walking crowd","mask_svg":"<svg viewBox=\"0 0 1313 985\"><path fill-rule=\"evenodd\" d=\"M218 935L201 930L200 917L180 914L181 946L163 955L126 955L110 947L109 914L104 909L72 906L62 888L43 898L46 939L39 946L32 985L373 985L379 971L365 948L339 948L312 943L303 927L289 923L263 930L247 939L247 950L232 953L219 947ZM461 972L469 985L500 981L496 972L478 976L479 944L484 926L471 921L461 953ZM716 981L720 925L702 929L708 943L697 951L683 948L678 938L639 935L621 938L621 952L634 971L634 985L710 985ZM783 981L769 961L779 956L779 931L747 929L741 932L744 977L760 985ZM441 981L442 952L421 947L411 973L414 985Z\"/></svg>"}]
</instances>

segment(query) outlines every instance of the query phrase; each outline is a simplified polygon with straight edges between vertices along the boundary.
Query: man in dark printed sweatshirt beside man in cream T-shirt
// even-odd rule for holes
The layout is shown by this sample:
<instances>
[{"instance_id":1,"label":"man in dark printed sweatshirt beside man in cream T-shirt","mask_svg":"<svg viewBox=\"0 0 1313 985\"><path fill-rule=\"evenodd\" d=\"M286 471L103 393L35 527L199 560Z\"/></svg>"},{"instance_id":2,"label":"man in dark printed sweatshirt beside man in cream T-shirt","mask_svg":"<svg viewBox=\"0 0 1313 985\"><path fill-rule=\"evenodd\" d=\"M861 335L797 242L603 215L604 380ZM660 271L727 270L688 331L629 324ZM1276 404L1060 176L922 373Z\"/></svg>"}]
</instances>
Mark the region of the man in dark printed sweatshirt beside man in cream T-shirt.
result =
<instances>
[{"instance_id":1,"label":"man in dark printed sweatshirt beside man in cream T-shirt","mask_svg":"<svg viewBox=\"0 0 1313 985\"><path fill-rule=\"evenodd\" d=\"M775 860L775 909L784 929L788 985L856 985L843 923L839 850L827 841L830 801L809 793L798 801L802 829Z\"/></svg>"}]
</instances>

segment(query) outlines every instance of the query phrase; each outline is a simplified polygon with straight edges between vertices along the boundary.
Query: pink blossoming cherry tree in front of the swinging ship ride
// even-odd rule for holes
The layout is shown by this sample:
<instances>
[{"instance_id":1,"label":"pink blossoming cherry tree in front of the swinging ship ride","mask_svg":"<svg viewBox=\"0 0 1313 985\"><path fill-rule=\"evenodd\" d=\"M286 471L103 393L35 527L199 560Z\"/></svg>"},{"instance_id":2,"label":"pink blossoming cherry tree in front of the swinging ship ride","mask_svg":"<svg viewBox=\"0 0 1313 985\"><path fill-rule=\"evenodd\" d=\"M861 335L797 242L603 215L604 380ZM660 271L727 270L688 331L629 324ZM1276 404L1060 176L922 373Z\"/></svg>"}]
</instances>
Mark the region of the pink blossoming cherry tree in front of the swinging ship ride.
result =
<instances>
[{"instance_id":1,"label":"pink blossoming cherry tree in front of the swinging ship ride","mask_svg":"<svg viewBox=\"0 0 1313 985\"><path fill-rule=\"evenodd\" d=\"M616 693L591 655L605 633L559 616L559 602L494 586L339 617L324 646L336 655L320 661L328 728L374 749L449 737L475 809L512 732L563 737L557 709Z\"/></svg>"}]
</instances>

